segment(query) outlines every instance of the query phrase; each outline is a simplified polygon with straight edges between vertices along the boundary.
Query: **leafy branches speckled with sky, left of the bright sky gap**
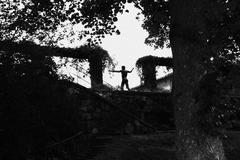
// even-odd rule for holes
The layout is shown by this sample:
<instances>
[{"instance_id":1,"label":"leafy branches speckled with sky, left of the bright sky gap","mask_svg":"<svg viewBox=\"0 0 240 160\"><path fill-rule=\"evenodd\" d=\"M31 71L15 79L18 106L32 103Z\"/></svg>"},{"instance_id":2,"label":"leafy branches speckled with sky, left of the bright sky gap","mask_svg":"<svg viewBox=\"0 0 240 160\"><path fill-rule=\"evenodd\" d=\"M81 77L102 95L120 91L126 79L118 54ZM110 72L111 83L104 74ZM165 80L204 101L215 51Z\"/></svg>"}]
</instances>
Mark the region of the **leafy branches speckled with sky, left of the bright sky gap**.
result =
<instances>
[{"instance_id":1,"label":"leafy branches speckled with sky, left of the bright sky gap","mask_svg":"<svg viewBox=\"0 0 240 160\"><path fill-rule=\"evenodd\" d=\"M126 2L126 1L125 1ZM65 24L81 24L79 38L87 35L89 43L100 42L105 34L119 30L114 26L124 1L3 0L1 1L1 39L52 41L55 31ZM75 33L72 33L75 34ZM56 35L55 35L56 36ZM64 34L58 34L56 39ZM61 39L61 38L60 38Z\"/></svg>"}]
</instances>

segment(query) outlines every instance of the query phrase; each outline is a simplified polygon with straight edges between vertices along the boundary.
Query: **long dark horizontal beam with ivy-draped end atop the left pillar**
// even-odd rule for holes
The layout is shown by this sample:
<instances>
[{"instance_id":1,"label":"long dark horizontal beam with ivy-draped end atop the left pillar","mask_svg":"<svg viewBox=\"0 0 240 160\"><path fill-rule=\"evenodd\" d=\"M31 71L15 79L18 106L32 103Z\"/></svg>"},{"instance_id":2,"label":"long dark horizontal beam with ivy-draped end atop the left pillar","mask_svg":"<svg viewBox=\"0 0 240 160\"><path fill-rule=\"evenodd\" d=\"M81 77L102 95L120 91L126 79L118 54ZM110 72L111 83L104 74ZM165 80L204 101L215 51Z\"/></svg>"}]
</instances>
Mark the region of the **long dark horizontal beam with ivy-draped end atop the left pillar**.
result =
<instances>
[{"instance_id":1,"label":"long dark horizontal beam with ivy-draped end atop the left pillar","mask_svg":"<svg viewBox=\"0 0 240 160\"><path fill-rule=\"evenodd\" d=\"M80 63L92 61L92 66L96 67L92 67L93 70L91 71L91 74L96 75L102 73L105 68L113 69L115 67L115 63L108 52L97 45L83 45L76 48L62 48L58 46L41 46L31 41L0 41L0 50L10 50L12 52L20 52L29 55L36 54L43 56L62 57L65 59L62 65L66 65L66 63L72 63L72 66L80 72L82 72L81 68L78 67ZM73 59L70 60L66 57Z\"/></svg>"}]
</instances>

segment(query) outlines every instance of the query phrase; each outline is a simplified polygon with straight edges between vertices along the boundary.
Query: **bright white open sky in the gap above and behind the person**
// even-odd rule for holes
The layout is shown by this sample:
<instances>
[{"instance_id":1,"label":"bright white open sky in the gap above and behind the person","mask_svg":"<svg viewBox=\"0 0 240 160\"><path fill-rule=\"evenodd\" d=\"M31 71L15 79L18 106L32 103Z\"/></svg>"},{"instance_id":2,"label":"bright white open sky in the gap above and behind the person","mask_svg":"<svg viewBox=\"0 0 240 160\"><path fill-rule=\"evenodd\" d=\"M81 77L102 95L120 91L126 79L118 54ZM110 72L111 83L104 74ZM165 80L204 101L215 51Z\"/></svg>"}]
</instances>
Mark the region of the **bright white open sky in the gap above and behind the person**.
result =
<instances>
[{"instance_id":1,"label":"bright white open sky in the gap above and behind the person","mask_svg":"<svg viewBox=\"0 0 240 160\"><path fill-rule=\"evenodd\" d=\"M140 84L140 78L135 68L137 59L146 55L170 57L171 49L154 50L153 47L147 46L144 40L148 33L141 27L142 19L136 19L138 9L129 4L126 9L130 12L119 15L118 21L116 22L116 26L121 34L106 36L102 40L103 43L101 46L107 50L110 56L117 62L116 70L120 70L122 65L125 65L127 70L134 68L134 71L128 75L129 86L132 88ZM158 72L160 76L164 75L164 71L158 70ZM110 76L110 74L105 71L103 80L116 87L121 83L121 75L119 73L113 73ZM89 81L89 79L87 79L87 81ZM88 86L84 81L80 83Z\"/></svg>"}]
</instances>

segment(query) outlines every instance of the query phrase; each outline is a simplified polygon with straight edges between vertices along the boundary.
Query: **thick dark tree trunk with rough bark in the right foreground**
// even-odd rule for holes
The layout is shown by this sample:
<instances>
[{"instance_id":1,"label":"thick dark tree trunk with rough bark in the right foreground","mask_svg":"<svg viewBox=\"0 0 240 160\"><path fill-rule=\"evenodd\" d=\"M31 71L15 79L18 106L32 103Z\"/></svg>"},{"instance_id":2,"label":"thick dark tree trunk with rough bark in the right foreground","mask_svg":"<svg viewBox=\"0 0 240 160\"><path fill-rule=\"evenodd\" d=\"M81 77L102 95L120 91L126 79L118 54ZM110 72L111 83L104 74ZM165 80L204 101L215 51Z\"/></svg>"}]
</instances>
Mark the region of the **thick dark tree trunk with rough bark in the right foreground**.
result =
<instances>
[{"instance_id":1,"label":"thick dark tree trunk with rough bark in the right foreground","mask_svg":"<svg viewBox=\"0 0 240 160\"><path fill-rule=\"evenodd\" d=\"M171 0L170 41L174 64L174 107L179 160L225 160L222 140L198 126L201 100L195 91L207 71L203 61L205 22L200 0Z\"/></svg>"}]
</instances>

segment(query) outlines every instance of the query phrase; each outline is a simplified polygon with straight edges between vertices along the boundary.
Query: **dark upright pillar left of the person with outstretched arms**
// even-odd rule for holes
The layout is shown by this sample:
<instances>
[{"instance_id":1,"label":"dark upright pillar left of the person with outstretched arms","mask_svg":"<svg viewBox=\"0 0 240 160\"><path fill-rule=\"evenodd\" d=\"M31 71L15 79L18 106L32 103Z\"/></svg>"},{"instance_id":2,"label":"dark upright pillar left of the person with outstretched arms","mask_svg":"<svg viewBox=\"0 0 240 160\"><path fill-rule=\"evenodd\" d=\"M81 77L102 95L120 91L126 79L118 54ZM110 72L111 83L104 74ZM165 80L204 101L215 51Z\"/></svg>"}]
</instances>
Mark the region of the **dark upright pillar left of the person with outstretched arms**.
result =
<instances>
[{"instance_id":1,"label":"dark upright pillar left of the person with outstretched arms","mask_svg":"<svg viewBox=\"0 0 240 160\"><path fill-rule=\"evenodd\" d=\"M91 87L96 88L103 84L103 62L101 56L95 55L89 58Z\"/></svg>"}]
</instances>

